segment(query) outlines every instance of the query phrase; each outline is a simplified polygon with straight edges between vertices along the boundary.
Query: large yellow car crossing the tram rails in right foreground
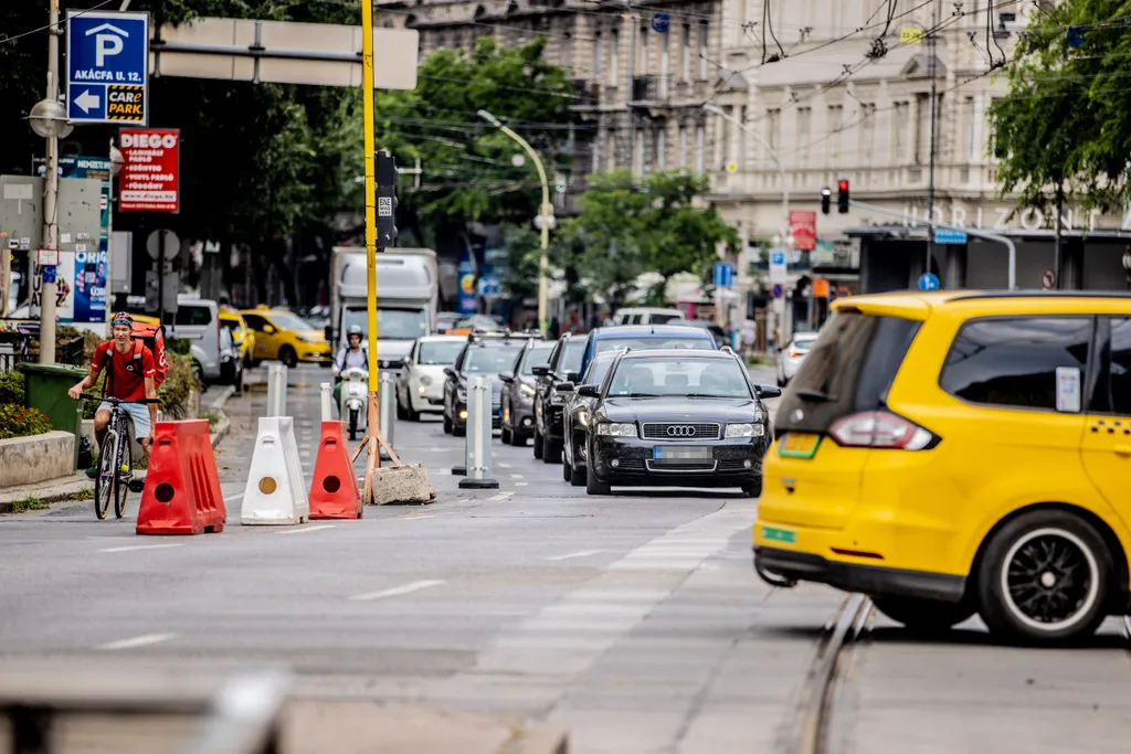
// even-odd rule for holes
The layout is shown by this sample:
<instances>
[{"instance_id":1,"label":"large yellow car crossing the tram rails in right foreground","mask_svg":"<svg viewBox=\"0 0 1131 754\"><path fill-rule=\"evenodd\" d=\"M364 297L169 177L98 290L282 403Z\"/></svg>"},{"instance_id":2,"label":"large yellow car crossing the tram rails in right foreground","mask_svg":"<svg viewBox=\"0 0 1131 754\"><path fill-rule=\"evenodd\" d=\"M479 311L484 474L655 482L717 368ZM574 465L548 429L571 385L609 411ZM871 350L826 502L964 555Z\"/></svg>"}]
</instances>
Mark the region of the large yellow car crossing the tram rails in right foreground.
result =
<instances>
[{"instance_id":1,"label":"large yellow car crossing the tram rails in right foreground","mask_svg":"<svg viewBox=\"0 0 1131 754\"><path fill-rule=\"evenodd\" d=\"M785 391L753 528L767 581L977 613L1053 643L1129 608L1131 297L853 296Z\"/></svg>"}]
</instances>

